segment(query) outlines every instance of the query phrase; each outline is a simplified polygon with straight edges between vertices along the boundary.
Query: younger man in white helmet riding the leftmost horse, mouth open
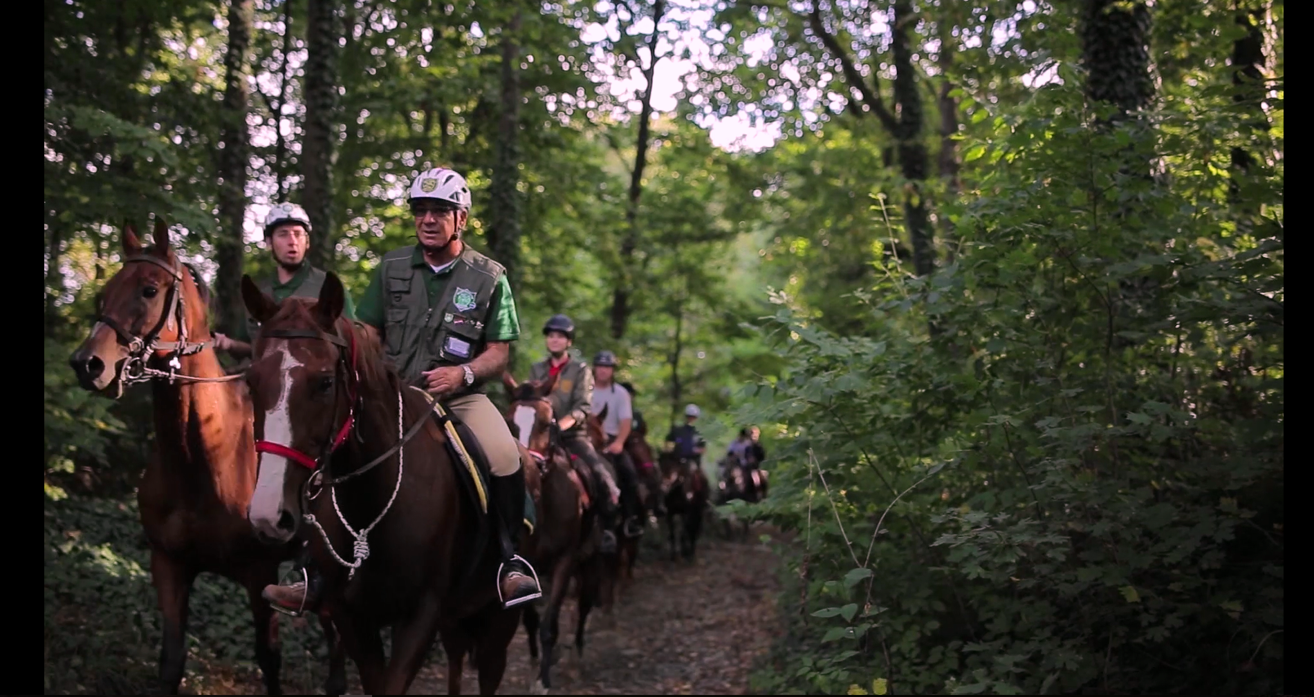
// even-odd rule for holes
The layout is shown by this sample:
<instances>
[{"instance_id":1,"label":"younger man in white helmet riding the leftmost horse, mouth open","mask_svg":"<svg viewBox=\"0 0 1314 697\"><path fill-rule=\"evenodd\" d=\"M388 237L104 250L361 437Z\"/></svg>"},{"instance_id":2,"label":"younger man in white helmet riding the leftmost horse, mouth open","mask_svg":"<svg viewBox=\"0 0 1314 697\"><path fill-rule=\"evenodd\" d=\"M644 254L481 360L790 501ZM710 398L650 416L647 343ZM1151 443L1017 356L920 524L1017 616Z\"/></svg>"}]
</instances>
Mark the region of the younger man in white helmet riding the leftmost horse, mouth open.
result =
<instances>
[{"instance_id":1,"label":"younger man in white helmet riding the leftmost horse, mouth open","mask_svg":"<svg viewBox=\"0 0 1314 697\"><path fill-rule=\"evenodd\" d=\"M296 203L279 203L269 207L264 217L264 244L273 255L275 273L256 285L275 302L283 302L290 297L319 298L319 289L325 284L325 272L314 268L306 261L306 252L310 248L310 217L305 209ZM356 310L351 303L351 295L344 297L343 315L355 319ZM214 333L214 348L229 352L235 358L251 356L251 344L255 343L260 323L247 315L246 323L233 327L231 335Z\"/></svg>"}]
</instances>

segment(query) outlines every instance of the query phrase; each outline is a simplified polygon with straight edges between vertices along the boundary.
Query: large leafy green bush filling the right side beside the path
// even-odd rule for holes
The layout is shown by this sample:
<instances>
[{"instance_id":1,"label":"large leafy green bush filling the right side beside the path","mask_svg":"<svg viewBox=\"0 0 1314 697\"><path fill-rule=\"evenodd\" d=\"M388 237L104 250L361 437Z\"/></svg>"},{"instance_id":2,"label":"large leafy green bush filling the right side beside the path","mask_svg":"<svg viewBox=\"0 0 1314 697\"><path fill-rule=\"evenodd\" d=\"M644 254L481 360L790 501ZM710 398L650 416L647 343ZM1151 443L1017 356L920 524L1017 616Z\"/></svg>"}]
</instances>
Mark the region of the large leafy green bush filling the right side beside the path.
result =
<instances>
[{"instance_id":1,"label":"large leafy green bush filling the right side beside the path","mask_svg":"<svg viewBox=\"0 0 1314 697\"><path fill-rule=\"evenodd\" d=\"M1281 158L1229 200L1215 97L1100 131L1047 87L968 155L954 264L879 269L866 336L763 322L807 613L758 689L1282 690Z\"/></svg>"}]
</instances>

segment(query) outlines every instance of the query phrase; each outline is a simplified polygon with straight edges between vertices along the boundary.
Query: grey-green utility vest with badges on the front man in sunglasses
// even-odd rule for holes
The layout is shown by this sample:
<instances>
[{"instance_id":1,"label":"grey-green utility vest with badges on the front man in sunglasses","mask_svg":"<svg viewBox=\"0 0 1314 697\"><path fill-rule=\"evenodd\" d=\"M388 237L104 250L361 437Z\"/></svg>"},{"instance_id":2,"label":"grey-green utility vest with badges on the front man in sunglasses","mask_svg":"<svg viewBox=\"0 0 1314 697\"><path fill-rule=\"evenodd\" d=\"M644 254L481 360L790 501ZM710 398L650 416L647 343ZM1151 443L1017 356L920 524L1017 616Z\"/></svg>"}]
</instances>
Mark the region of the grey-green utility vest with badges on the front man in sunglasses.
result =
<instances>
[{"instance_id":1,"label":"grey-green utility vest with badges on the front man in sunglasses","mask_svg":"<svg viewBox=\"0 0 1314 697\"><path fill-rule=\"evenodd\" d=\"M384 255L384 356L403 382L424 387L420 373L464 365L484 352L493 291L506 269L466 245L438 303L430 307L424 285L430 272L411 264L414 253L414 247L403 247ZM457 394L476 386L478 382Z\"/></svg>"}]
</instances>

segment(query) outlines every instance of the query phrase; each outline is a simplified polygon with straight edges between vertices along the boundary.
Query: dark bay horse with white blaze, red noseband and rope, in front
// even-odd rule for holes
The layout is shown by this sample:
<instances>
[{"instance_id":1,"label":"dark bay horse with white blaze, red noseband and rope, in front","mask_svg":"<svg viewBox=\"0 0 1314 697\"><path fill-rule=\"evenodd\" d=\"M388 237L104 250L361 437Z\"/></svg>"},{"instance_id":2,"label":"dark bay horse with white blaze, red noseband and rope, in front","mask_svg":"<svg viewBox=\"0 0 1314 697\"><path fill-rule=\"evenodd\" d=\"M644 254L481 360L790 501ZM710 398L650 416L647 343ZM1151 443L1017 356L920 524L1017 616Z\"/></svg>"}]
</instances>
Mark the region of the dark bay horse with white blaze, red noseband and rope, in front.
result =
<instances>
[{"instance_id":1,"label":"dark bay horse with white blaze, red noseband and rope, in front","mask_svg":"<svg viewBox=\"0 0 1314 697\"><path fill-rule=\"evenodd\" d=\"M261 324L247 370L260 454L247 515L258 534L286 542L305 529L323 612L365 693L406 693L440 634L448 693L461 693L470 654L480 693L494 694L520 608L498 597L491 512L478 479L474 495L463 490L447 450L451 421L440 427L439 404L402 383L373 329L342 316L335 274L318 299L276 303L250 277L242 297Z\"/></svg>"}]
</instances>

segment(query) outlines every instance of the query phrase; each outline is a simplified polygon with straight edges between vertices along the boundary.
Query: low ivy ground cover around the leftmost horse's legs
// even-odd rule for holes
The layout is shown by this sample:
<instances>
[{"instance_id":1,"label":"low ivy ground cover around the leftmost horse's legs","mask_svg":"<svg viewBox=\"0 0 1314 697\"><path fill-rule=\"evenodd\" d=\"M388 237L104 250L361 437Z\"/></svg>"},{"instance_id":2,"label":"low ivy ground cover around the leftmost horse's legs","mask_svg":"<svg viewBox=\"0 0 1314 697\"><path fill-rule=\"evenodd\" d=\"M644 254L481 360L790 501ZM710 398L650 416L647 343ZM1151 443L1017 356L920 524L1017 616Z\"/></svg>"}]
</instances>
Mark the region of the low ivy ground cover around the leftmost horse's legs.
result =
<instances>
[{"instance_id":1,"label":"low ivy ground cover around the leftmost horse's legs","mask_svg":"<svg viewBox=\"0 0 1314 697\"><path fill-rule=\"evenodd\" d=\"M47 694L142 694L154 685L160 616L135 500L74 496L45 507L45 688ZM286 686L314 689L327 654L318 625L281 622ZM210 665L254 675L255 629L246 592L201 575L188 620L191 686Z\"/></svg>"}]
</instances>

